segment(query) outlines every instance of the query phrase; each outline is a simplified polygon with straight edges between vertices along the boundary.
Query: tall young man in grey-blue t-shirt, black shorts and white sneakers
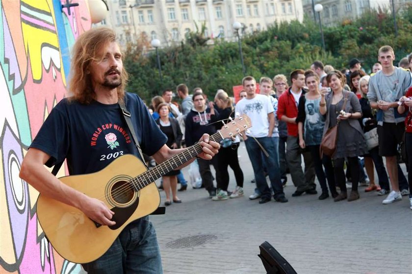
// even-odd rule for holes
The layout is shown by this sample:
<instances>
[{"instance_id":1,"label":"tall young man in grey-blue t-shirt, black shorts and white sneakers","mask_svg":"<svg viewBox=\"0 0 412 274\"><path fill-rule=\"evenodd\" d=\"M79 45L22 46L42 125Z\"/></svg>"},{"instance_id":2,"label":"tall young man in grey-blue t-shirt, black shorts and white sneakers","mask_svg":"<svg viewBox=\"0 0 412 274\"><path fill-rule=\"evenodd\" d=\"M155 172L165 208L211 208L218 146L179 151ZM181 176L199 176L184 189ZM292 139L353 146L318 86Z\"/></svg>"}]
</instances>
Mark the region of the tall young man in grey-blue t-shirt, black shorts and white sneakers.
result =
<instances>
[{"instance_id":1,"label":"tall young man in grey-blue t-shirt, black shorts and white sneakers","mask_svg":"<svg viewBox=\"0 0 412 274\"><path fill-rule=\"evenodd\" d=\"M386 168L389 174L392 192L382 202L392 203L408 195L408 189L399 190L398 165L396 162L397 146L405 132L405 117L398 111L399 99L405 95L411 86L411 74L393 66L395 53L390 46L383 46L378 51L378 61L382 70L373 75L369 80L367 97L370 106L378 110L378 138L379 154L386 158Z\"/></svg>"}]
</instances>

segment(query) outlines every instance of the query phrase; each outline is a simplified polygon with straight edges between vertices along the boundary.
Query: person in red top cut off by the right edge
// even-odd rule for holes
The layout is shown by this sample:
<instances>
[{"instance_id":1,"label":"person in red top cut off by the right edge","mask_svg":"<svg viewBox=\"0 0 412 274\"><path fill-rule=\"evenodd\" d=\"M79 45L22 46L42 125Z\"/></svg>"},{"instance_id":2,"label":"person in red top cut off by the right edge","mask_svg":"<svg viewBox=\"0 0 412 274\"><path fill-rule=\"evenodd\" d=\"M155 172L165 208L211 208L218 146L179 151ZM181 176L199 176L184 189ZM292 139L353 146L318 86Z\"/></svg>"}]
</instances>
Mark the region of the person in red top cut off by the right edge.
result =
<instances>
[{"instance_id":1,"label":"person in red top cut off by the right edge","mask_svg":"<svg viewBox=\"0 0 412 274\"><path fill-rule=\"evenodd\" d=\"M412 54L412 53L411 53ZM398 112L408 111L405 118L405 145L408 156L409 208L412 210L412 87L399 100Z\"/></svg>"}]
</instances>

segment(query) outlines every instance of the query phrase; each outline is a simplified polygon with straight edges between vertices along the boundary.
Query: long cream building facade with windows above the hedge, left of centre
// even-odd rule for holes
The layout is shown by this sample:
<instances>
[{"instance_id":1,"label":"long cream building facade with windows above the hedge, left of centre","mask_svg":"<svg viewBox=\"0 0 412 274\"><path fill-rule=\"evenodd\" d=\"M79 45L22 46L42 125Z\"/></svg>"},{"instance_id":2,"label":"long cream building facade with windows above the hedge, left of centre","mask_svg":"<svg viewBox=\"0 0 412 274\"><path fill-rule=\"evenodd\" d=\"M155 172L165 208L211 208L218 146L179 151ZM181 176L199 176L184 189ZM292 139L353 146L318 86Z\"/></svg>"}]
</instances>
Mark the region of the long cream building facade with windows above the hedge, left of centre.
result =
<instances>
[{"instance_id":1,"label":"long cream building facade with windows above the hedge, left of centre","mask_svg":"<svg viewBox=\"0 0 412 274\"><path fill-rule=\"evenodd\" d=\"M205 36L234 39L233 23L241 33L266 29L275 22L303 21L302 0L107 0L102 25L119 35L122 45L143 38L161 46L178 44L185 34L205 25ZM211 41L213 41L211 39Z\"/></svg>"}]
</instances>

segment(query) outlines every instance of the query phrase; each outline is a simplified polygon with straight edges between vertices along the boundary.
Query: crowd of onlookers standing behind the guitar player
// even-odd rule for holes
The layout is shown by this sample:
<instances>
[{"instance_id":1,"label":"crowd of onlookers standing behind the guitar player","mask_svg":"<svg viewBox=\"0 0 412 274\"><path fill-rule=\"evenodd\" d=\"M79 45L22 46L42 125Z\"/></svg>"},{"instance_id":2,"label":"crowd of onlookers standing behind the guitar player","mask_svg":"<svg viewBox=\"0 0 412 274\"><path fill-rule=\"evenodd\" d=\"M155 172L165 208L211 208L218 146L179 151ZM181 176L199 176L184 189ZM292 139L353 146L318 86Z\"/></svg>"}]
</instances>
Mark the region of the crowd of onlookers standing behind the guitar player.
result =
<instances>
[{"instance_id":1,"label":"crowd of onlookers standing behind the guitar player","mask_svg":"<svg viewBox=\"0 0 412 274\"><path fill-rule=\"evenodd\" d=\"M317 194L316 176L320 200L332 196L335 201L353 201L360 198L358 187L365 186L365 192L387 195L383 203L388 204L410 195L412 187L411 175L408 174L407 180L399 165L404 160L409 170L412 162L412 108L407 111L412 106L411 59L412 53L396 67L393 49L383 46L378 50L379 62L372 66L370 75L362 70L361 61L353 58L349 69L341 71L314 61L310 69L290 73L290 86L285 75L275 75L273 79L261 77L258 84L254 77L246 76L236 104L223 90L218 90L214 99L208 101L201 88L195 88L193 95L189 95L188 87L180 84L176 93L181 105L172 102L172 90L165 90L162 96L153 98L150 108L164 131L160 121L166 119L162 118L166 111L162 114L159 111L169 105L168 119L176 121L182 132L179 137L176 132L172 135L168 131L168 145L174 147L180 147L181 141L191 146L203 133L211 135L219 130L221 122L227 123L235 113L246 114L253 126L241 139L253 167L252 182L256 182L249 199L265 203L273 197L278 202L287 202L283 187L287 182L286 172L290 172L296 187L292 197ZM335 125L338 128L335 152L326 155L321 151L322 140ZM235 140L225 139L212 160L197 160L202 185L212 200L244 195L244 176L237 158L239 143L238 136ZM210 165L214 166L215 174L211 173ZM229 166L236 181L233 192L228 189ZM378 174L376 180L374 170ZM184 191L187 181L179 174L179 191ZM177 183L167 182L163 188L166 205L171 204L170 189L173 200L180 202L176 196ZM412 196L409 198L412 209Z\"/></svg>"}]
</instances>

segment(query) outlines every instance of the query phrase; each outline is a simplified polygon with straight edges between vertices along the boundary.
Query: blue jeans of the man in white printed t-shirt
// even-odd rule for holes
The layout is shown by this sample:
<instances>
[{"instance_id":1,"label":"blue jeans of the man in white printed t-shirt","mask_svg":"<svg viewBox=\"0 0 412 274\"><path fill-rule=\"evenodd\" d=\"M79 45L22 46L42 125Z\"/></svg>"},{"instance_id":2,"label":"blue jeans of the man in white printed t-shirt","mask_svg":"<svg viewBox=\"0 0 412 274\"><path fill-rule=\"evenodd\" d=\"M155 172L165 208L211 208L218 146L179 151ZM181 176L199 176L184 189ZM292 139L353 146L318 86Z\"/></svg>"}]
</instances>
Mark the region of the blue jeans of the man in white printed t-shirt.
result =
<instances>
[{"instance_id":1,"label":"blue jeans of the man in white printed t-shirt","mask_svg":"<svg viewBox=\"0 0 412 274\"><path fill-rule=\"evenodd\" d=\"M274 197L284 196L283 186L281 182L281 173L279 169L278 146L279 137L261 137L256 138L259 144L267 151L268 157L264 157L266 166L268 167L270 184L273 188ZM261 149L252 137L245 141L246 150L248 151L250 161L252 163L253 172L255 174L256 186L262 198L270 198L271 192L266 183L266 177L263 172L263 162L261 157Z\"/></svg>"}]
</instances>

